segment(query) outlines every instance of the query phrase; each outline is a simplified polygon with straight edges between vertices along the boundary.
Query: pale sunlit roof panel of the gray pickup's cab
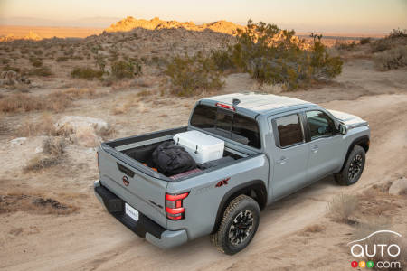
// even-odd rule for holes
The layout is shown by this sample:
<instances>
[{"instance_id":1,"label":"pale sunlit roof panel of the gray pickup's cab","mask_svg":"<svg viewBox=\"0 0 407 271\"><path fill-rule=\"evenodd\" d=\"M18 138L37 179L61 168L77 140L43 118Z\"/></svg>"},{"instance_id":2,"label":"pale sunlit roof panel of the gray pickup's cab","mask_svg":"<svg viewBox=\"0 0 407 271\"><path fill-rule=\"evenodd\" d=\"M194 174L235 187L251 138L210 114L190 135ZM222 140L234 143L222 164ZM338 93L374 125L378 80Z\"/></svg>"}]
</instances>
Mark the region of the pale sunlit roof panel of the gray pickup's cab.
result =
<instances>
[{"instance_id":1,"label":"pale sunlit roof panel of the gray pickup's cab","mask_svg":"<svg viewBox=\"0 0 407 271\"><path fill-rule=\"evenodd\" d=\"M270 113L277 114L281 111L286 111L287 109L289 109L288 107L298 108L317 106L313 103L298 98L289 98L286 96L260 94L253 92L232 93L213 96L204 98L201 100L201 102L209 104L215 104L219 102L232 106L233 98L237 98L240 100L240 103L236 106L236 112L240 111L240 113L251 116L258 114L269 115ZM284 108L284 110L281 110L282 108Z\"/></svg>"}]
</instances>

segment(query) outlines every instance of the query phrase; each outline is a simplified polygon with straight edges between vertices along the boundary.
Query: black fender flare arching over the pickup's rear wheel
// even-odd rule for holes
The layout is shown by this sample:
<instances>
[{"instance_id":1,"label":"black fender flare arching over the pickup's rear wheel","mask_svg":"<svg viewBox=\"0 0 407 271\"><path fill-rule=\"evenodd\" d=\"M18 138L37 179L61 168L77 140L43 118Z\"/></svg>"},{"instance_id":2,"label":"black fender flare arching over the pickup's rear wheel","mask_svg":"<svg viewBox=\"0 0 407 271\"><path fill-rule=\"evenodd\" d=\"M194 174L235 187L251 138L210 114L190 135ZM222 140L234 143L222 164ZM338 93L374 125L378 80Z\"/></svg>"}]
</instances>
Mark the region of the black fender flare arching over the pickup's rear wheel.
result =
<instances>
[{"instance_id":1,"label":"black fender flare arching over the pickup's rear wheel","mask_svg":"<svg viewBox=\"0 0 407 271\"><path fill-rule=\"evenodd\" d=\"M263 210L267 204L267 189L263 181L261 180L253 180L250 182L244 182L239 185L232 187L231 190L226 192L223 197L222 201L219 204L218 210L216 212L216 220L213 225L213 230L211 234L215 233L219 229L219 225L222 220L222 214L224 210L226 210L229 203L244 192L248 192L249 190L254 190L255 192L259 192L258 203L260 206L260 210Z\"/></svg>"}]
</instances>

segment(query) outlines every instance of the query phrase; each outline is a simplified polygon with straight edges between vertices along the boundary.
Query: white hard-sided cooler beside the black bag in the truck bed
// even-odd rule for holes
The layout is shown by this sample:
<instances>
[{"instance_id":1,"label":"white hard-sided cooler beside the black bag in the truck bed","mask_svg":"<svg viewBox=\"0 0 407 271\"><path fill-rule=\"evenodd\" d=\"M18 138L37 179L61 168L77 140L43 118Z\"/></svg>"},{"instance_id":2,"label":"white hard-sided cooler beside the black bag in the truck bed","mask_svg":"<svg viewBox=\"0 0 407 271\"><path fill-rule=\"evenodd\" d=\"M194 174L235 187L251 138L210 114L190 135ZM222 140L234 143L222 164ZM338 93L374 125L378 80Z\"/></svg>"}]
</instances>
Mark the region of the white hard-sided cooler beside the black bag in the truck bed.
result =
<instances>
[{"instance_id":1,"label":"white hard-sided cooler beside the black bag in the truck bed","mask_svg":"<svg viewBox=\"0 0 407 271\"><path fill-rule=\"evenodd\" d=\"M175 144L185 147L198 164L221 159L223 156L224 141L211 135L188 131L174 135L173 139Z\"/></svg>"}]
</instances>

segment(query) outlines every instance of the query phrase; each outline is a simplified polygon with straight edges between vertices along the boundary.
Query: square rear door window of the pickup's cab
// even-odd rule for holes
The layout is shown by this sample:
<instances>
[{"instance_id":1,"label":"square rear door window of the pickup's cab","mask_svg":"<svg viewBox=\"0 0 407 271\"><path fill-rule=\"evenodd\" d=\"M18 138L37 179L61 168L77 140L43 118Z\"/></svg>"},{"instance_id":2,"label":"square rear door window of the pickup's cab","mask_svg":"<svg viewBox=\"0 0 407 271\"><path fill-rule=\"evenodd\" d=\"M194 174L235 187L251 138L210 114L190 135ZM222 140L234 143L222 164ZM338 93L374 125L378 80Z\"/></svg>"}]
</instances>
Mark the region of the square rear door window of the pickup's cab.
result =
<instances>
[{"instance_id":1,"label":"square rear door window of the pickup's cab","mask_svg":"<svg viewBox=\"0 0 407 271\"><path fill-rule=\"evenodd\" d=\"M304 141L298 114L279 117L275 121L279 133L279 146L287 147Z\"/></svg>"}]
</instances>

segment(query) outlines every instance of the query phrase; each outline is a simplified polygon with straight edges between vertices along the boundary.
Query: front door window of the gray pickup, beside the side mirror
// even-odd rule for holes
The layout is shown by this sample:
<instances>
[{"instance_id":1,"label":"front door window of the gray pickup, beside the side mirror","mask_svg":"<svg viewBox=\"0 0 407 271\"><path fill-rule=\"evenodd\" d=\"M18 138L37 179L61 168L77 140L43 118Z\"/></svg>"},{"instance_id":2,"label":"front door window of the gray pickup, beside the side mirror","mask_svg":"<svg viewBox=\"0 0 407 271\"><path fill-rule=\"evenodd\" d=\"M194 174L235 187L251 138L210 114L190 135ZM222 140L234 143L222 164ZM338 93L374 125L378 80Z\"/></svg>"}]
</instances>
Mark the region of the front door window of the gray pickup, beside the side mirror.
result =
<instances>
[{"instance_id":1,"label":"front door window of the gray pickup, beside the side mirror","mask_svg":"<svg viewBox=\"0 0 407 271\"><path fill-rule=\"evenodd\" d=\"M311 140L321 136L334 135L334 121L326 113L322 111L308 111L306 114Z\"/></svg>"}]
</instances>

